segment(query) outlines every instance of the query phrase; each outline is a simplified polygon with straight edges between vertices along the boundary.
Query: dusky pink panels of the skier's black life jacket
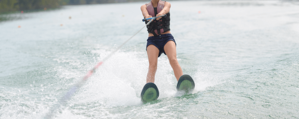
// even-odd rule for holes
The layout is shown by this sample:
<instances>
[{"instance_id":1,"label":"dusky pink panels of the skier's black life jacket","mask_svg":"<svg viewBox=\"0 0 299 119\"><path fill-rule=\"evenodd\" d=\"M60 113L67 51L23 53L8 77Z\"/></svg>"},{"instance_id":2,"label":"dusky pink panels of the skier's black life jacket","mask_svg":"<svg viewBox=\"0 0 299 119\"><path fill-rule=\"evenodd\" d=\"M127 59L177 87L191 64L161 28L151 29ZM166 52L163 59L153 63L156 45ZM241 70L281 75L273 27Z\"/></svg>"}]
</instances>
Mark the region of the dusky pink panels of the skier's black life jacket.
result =
<instances>
[{"instance_id":1,"label":"dusky pink panels of the skier's black life jacket","mask_svg":"<svg viewBox=\"0 0 299 119\"><path fill-rule=\"evenodd\" d=\"M161 0L158 1L157 13L161 12L161 10L164 8L164 4L165 4L165 1L161 1ZM152 6L152 1L147 3L146 6L147 6L147 12L149 13L149 15L151 15L152 17L155 17L155 11L154 11L154 7ZM159 20L159 21L162 21L162 20ZM156 21L154 21L154 22L156 22ZM162 26L162 25L160 25L160 26ZM157 30L154 30L154 32L157 35L159 35ZM160 29L160 33L164 33L164 29Z\"/></svg>"}]
</instances>

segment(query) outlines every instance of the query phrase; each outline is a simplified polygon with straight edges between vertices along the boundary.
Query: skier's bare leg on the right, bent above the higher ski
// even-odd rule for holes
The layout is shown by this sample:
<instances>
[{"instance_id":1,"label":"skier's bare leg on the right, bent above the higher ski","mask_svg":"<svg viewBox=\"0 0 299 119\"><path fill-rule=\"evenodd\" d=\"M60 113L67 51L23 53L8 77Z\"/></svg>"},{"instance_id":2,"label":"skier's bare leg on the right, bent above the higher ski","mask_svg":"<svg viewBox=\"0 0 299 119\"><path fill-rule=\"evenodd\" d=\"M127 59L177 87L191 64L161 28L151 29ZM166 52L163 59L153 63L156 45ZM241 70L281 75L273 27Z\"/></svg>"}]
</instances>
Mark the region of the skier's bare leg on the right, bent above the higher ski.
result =
<instances>
[{"instance_id":1,"label":"skier's bare leg on the right, bent above the higher ski","mask_svg":"<svg viewBox=\"0 0 299 119\"><path fill-rule=\"evenodd\" d=\"M174 43L172 40L168 41L164 46L164 51L173 69L174 76L176 76L176 80L179 81L179 78L183 75L183 71L178 60L176 59L176 43Z\"/></svg>"}]
</instances>

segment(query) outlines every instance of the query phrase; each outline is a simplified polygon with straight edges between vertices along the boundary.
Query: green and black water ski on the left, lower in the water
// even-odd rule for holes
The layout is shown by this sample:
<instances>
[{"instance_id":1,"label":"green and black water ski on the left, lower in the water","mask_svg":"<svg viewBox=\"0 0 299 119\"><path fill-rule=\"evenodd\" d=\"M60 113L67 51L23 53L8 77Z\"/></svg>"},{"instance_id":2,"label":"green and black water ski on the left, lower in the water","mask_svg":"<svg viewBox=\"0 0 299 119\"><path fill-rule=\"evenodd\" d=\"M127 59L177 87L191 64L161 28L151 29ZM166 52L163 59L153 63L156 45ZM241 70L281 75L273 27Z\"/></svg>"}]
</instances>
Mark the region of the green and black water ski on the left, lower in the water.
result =
<instances>
[{"instance_id":1,"label":"green and black water ski on the left, lower in the water","mask_svg":"<svg viewBox=\"0 0 299 119\"><path fill-rule=\"evenodd\" d=\"M140 97L144 103L156 100L159 97L158 87L154 83L145 84Z\"/></svg>"}]
</instances>

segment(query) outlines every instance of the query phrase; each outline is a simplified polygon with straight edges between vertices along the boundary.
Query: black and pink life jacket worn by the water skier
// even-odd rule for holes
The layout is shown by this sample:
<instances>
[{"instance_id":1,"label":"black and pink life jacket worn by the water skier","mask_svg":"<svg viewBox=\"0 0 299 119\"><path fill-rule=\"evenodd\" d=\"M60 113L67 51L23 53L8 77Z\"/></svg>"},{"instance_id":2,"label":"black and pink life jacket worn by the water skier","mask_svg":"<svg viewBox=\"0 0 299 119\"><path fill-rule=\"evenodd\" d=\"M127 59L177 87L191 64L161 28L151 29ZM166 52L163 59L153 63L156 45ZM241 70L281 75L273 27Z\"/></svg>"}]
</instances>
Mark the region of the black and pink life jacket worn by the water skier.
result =
<instances>
[{"instance_id":1,"label":"black and pink life jacket worn by the water skier","mask_svg":"<svg viewBox=\"0 0 299 119\"><path fill-rule=\"evenodd\" d=\"M164 8L165 1L158 1L158 6L153 7L152 1L146 4L147 6L147 12L152 17L155 17L161 10ZM152 33L153 35L160 35L161 33L170 31L170 13L168 12L166 14L166 17L162 17L158 21L155 19L152 21L149 25L147 25L147 31L148 33ZM149 21L145 21L145 24L147 24Z\"/></svg>"}]
</instances>

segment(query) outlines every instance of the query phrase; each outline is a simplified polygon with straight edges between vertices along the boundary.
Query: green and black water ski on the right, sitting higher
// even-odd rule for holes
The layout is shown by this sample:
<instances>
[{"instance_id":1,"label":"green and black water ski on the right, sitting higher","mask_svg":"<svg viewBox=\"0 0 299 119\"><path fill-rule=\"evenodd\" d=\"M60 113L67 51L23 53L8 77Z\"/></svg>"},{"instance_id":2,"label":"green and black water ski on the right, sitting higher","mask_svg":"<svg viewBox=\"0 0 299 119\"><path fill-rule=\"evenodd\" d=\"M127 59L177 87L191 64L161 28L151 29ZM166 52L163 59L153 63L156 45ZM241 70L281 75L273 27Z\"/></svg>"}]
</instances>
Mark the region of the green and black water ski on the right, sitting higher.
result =
<instances>
[{"instance_id":1,"label":"green and black water ski on the right, sitting higher","mask_svg":"<svg viewBox=\"0 0 299 119\"><path fill-rule=\"evenodd\" d=\"M182 75L176 85L178 91L184 91L185 93L192 92L195 87L194 81L191 76L185 74Z\"/></svg>"}]
</instances>

